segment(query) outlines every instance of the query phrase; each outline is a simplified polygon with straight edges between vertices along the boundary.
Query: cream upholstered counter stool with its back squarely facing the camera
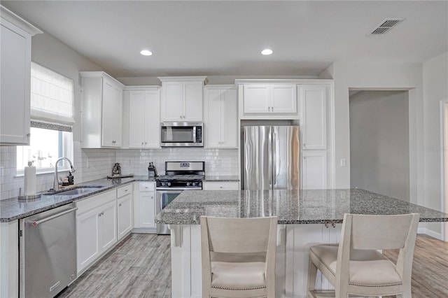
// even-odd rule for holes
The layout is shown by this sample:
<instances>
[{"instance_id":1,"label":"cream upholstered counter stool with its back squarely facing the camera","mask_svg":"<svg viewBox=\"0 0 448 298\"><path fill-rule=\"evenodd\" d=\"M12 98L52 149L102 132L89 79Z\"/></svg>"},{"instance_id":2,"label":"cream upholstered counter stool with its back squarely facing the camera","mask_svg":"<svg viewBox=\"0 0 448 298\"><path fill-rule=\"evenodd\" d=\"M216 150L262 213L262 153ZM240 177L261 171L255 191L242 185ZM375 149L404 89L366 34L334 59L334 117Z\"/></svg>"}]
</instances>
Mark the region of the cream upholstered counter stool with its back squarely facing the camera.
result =
<instances>
[{"instance_id":1,"label":"cream upholstered counter stool with its back squarely facing the camera","mask_svg":"<svg viewBox=\"0 0 448 298\"><path fill-rule=\"evenodd\" d=\"M201 217L202 297L275 296L276 217Z\"/></svg>"}]
</instances>

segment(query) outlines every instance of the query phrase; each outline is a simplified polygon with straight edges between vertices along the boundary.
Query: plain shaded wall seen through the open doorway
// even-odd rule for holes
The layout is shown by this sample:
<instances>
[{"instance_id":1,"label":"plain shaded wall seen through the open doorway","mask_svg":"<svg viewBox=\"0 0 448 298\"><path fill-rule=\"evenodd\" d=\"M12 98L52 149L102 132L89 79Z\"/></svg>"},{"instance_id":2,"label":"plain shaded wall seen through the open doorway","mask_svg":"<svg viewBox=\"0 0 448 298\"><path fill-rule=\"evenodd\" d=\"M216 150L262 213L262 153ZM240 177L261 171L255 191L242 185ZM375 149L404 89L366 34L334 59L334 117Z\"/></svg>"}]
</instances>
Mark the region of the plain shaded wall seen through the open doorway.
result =
<instances>
[{"instance_id":1,"label":"plain shaded wall seen through the open doorway","mask_svg":"<svg viewBox=\"0 0 448 298\"><path fill-rule=\"evenodd\" d=\"M409 108L406 91L350 97L350 185L409 201Z\"/></svg>"}]
</instances>

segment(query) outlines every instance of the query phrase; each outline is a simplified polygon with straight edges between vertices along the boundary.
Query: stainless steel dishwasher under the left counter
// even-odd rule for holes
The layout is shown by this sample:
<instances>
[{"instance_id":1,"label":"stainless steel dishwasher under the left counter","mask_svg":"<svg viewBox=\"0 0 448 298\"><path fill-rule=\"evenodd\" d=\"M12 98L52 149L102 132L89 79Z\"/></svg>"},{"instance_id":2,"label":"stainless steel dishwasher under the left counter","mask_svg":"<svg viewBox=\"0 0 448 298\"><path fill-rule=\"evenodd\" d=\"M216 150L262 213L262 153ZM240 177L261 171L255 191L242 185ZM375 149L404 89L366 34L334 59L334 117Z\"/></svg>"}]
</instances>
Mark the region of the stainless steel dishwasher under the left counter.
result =
<instances>
[{"instance_id":1,"label":"stainless steel dishwasher under the left counter","mask_svg":"<svg viewBox=\"0 0 448 298\"><path fill-rule=\"evenodd\" d=\"M73 203L20 220L20 297L55 297L76 278Z\"/></svg>"}]
</instances>

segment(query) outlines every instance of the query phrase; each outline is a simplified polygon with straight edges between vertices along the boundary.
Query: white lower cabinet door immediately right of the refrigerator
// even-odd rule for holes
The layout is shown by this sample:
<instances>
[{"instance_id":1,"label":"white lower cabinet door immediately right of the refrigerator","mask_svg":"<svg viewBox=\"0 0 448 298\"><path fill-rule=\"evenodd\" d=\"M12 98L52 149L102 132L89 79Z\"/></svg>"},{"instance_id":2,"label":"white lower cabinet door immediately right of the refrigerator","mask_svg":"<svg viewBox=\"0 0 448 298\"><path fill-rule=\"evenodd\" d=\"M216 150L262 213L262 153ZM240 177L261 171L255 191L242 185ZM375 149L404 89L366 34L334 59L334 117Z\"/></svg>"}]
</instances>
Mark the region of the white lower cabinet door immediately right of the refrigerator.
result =
<instances>
[{"instance_id":1,"label":"white lower cabinet door immediately right of the refrigerator","mask_svg":"<svg viewBox=\"0 0 448 298\"><path fill-rule=\"evenodd\" d=\"M327 152L302 151L302 189L327 188Z\"/></svg>"}]
</instances>

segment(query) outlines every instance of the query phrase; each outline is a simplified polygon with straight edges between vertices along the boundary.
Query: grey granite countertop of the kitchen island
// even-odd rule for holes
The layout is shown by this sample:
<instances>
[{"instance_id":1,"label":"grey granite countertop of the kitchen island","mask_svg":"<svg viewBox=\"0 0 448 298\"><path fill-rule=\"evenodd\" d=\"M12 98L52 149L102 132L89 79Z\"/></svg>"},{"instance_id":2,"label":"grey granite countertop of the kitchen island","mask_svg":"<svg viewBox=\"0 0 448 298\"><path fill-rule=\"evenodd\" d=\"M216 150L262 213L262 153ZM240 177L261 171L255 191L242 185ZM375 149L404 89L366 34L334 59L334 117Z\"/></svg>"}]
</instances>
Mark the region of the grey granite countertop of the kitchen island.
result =
<instances>
[{"instance_id":1,"label":"grey granite countertop of the kitchen island","mask_svg":"<svg viewBox=\"0 0 448 298\"><path fill-rule=\"evenodd\" d=\"M279 224L342 223L344 213L420 213L421 222L448 222L448 214L367 190L186 190L155 222L199 225L200 216L254 218L276 215Z\"/></svg>"}]
</instances>

